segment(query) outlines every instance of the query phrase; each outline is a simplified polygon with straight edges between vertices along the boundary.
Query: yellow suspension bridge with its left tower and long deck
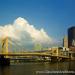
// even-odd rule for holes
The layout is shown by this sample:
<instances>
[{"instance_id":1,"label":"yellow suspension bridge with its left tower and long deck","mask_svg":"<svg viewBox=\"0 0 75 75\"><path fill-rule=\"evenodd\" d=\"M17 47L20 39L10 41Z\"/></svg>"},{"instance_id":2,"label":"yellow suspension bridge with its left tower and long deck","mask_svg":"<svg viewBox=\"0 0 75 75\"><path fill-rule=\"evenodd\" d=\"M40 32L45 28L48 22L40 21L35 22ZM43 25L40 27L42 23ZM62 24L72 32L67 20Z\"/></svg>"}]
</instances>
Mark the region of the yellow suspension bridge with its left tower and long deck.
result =
<instances>
[{"instance_id":1,"label":"yellow suspension bridge with its left tower and long deck","mask_svg":"<svg viewBox=\"0 0 75 75\"><path fill-rule=\"evenodd\" d=\"M49 57L51 60L59 60L59 59L70 59L69 56L63 56L63 55L52 55L50 53L46 53L46 52L25 52L25 53L9 53L8 52L8 38L4 38L2 39L2 53L0 53L0 63L3 63L3 62L7 62L7 58L10 59L10 57L12 56L38 56L39 58L40 57ZM1 62L2 61L2 62Z\"/></svg>"}]
</instances>

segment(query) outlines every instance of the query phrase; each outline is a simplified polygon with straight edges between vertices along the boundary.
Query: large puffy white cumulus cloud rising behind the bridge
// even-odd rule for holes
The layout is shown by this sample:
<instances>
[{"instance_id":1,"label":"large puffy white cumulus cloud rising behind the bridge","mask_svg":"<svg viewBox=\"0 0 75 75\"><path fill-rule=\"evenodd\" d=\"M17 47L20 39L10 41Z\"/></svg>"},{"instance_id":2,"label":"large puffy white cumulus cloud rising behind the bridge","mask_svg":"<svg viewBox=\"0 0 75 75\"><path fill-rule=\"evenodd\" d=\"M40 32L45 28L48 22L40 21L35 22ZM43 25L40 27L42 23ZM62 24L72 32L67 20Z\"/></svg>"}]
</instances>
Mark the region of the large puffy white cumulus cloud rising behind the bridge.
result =
<instances>
[{"instance_id":1,"label":"large puffy white cumulus cloud rising behind the bridge","mask_svg":"<svg viewBox=\"0 0 75 75\"><path fill-rule=\"evenodd\" d=\"M29 48L38 43L42 46L53 44L53 39L47 35L43 28L38 30L21 17L17 18L13 24L0 26L0 39L5 37L10 39L10 44L19 45L19 48Z\"/></svg>"}]
</instances>

